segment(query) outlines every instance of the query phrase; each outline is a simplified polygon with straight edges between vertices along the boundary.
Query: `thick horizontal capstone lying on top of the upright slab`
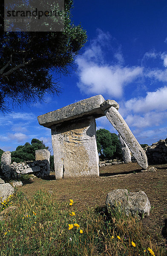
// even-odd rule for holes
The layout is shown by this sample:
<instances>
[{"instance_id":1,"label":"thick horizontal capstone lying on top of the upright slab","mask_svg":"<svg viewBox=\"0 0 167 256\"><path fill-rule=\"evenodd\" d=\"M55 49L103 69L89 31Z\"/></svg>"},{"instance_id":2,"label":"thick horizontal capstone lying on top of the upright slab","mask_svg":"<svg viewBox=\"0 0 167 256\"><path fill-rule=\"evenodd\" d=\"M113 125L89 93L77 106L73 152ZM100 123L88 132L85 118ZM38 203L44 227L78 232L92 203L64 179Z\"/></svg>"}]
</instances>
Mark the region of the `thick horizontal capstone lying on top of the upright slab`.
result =
<instances>
[{"instance_id":1,"label":"thick horizontal capstone lying on top of the upright slab","mask_svg":"<svg viewBox=\"0 0 167 256\"><path fill-rule=\"evenodd\" d=\"M37 119L40 125L51 128L52 125L82 116L95 116L95 118L101 117L104 116L104 112L101 111L100 105L104 101L105 99L101 95L93 96L38 116Z\"/></svg>"}]
</instances>

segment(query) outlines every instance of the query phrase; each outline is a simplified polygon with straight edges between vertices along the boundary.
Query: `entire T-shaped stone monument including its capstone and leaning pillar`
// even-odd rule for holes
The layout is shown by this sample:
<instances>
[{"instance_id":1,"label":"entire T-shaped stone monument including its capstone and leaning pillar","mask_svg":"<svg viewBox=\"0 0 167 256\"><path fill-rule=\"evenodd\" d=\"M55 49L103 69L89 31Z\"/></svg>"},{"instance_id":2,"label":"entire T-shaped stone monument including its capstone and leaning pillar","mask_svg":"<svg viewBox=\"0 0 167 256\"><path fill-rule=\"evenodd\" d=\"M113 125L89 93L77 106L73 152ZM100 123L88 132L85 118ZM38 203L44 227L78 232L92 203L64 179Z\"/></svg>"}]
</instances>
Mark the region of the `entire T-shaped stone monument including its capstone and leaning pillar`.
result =
<instances>
[{"instance_id":1,"label":"entire T-shaped stone monument including its capstone and leaning pillar","mask_svg":"<svg viewBox=\"0 0 167 256\"><path fill-rule=\"evenodd\" d=\"M95 119L101 116L107 116L138 164L147 169L147 156L118 109L115 100L97 95L37 117L52 131L56 179L99 176Z\"/></svg>"}]
</instances>

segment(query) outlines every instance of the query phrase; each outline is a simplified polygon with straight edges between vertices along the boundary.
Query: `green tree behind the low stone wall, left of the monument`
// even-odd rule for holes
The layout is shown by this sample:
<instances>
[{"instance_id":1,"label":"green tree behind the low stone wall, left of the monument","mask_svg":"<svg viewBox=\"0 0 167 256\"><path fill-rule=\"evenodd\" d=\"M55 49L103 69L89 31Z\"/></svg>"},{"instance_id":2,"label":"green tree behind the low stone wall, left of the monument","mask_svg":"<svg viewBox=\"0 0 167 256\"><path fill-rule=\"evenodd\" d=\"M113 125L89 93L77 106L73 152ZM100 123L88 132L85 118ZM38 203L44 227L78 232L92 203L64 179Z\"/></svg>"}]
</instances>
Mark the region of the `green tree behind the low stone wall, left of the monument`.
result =
<instances>
[{"instance_id":1,"label":"green tree behind the low stone wall, left of the monument","mask_svg":"<svg viewBox=\"0 0 167 256\"><path fill-rule=\"evenodd\" d=\"M12 163L34 161L35 150L38 149L48 149L48 147L46 147L43 141L37 139L32 139L31 144L29 142L26 142L23 146L18 146L15 151L11 152Z\"/></svg>"}]
</instances>

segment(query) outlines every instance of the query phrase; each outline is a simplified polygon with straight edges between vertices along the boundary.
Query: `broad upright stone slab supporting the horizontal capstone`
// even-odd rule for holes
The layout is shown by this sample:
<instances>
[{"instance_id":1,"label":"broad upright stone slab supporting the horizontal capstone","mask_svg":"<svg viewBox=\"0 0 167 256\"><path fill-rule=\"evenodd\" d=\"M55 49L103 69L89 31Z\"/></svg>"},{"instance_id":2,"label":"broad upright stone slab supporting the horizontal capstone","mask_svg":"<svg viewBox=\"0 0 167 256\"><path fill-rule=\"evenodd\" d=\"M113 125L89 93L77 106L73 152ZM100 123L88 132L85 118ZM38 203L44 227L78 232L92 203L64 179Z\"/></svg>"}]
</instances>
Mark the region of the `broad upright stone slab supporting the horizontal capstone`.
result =
<instances>
[{"instance_id":1,"label":"broad upright stone slab supporting the horizontal capstone","mask_svg":"<svg viewBox=\"0 0 167 256\"><path fill-rule=\"evenodd\" d=\"M52 146L56 179L99 175L94 117L53 126Z\"/></svg>"}]
</instances>

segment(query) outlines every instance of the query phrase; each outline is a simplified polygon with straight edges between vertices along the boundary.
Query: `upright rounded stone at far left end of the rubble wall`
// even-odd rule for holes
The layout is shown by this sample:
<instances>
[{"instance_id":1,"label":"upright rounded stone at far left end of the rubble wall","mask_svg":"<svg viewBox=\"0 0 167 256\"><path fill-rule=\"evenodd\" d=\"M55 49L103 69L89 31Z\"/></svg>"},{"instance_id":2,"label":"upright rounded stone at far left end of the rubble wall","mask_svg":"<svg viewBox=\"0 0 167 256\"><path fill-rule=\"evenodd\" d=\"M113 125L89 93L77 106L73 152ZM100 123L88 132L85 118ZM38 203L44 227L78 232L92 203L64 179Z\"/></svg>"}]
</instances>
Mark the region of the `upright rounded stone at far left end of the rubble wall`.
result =
<instances>
[{"instance_id":1,"label":"upright rounded stone at far left end of the rubble wall","mask_svg":"<svg viewBox=\"0 0 167 256\"><path fill-rule=\"evenodd\" d=\"M11 152L6 151L3 152L2 157L1 157L1 170L3 177L6 180L11 179Z\"/></svg>"}]
</instances>

